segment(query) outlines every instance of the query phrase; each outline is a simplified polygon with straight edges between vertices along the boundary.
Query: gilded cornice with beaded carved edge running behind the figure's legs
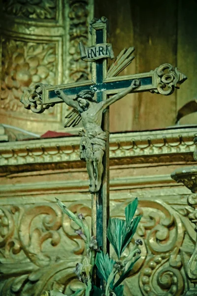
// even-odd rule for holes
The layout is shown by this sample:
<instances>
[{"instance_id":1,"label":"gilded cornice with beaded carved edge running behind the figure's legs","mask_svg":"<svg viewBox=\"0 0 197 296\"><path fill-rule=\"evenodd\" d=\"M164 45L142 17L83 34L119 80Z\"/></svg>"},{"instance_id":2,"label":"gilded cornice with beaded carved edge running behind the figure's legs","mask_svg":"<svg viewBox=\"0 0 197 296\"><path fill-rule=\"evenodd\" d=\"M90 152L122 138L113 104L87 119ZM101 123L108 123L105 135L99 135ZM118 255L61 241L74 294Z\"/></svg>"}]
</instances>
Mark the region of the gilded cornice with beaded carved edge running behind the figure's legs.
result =
<instances>
[{"instance_id":1,"label":"gilded cornice with beaded carved edge running behind the figure's legs","mask_svg":"<svg viewBox=\"0 0 197 296\"><path fill-rule=\"evenodd\" d=\"M111 134L111 165L194 162L195 135L196 128ZM1 172L85 167L79 143L78 136L0 143Z\"/></svg>"}]
</instances>

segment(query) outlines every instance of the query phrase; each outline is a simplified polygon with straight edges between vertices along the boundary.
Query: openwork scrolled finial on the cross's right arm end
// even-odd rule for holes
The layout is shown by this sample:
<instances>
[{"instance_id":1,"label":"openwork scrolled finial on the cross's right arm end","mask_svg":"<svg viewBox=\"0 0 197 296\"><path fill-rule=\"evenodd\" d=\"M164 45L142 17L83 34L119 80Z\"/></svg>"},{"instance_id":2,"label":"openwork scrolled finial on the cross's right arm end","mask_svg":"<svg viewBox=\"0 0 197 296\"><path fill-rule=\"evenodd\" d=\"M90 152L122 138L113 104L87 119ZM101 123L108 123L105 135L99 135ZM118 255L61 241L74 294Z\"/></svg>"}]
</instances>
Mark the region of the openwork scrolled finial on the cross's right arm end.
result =
<instances>
[{"instance_id":1,"label":"openwork scrolled finial on the cross's right arm end","mask_svg":"<svg viewBox=\"0 0 197 296\"><path fill-rule=\"evenodd\" d=\"M174 68L170 64L163 64L155 69L155 84L156 92L162 95L171 95L175 88L179 88L187 77L182 74L177 68Z\"/></svg>"}]
</instances>

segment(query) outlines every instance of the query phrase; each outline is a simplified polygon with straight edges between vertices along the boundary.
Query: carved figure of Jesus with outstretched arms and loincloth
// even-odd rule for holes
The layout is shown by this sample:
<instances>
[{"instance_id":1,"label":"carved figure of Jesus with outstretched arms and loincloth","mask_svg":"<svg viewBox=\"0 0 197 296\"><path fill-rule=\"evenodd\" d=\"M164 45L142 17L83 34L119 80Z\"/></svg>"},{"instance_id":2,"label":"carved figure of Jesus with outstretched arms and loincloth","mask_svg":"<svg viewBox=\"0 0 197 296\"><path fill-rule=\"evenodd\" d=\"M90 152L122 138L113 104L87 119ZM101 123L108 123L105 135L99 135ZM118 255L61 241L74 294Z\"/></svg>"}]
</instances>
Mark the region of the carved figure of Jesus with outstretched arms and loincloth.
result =
<instances>
[{"instance_id":1,"label":"carved figure of Jesus with outstretched arms and loincloth","mask_svg":"<svg viewBox=\"0 0 197 296\"><path fill-rule=\"evenodd\" d=\"M80 158L86 161L91 193L99 191L103 173L102 157L105 152L106 133L101 129L102 113L108 106L125 97L139 85L140 81L134 79L129 87L99 103L94 99L95 93L92 90L82 90L75 99L71 99L60 89L55 90L66 105L81 115L83 129L79 132L82 137Z\"/></svg>"}]
</instances>

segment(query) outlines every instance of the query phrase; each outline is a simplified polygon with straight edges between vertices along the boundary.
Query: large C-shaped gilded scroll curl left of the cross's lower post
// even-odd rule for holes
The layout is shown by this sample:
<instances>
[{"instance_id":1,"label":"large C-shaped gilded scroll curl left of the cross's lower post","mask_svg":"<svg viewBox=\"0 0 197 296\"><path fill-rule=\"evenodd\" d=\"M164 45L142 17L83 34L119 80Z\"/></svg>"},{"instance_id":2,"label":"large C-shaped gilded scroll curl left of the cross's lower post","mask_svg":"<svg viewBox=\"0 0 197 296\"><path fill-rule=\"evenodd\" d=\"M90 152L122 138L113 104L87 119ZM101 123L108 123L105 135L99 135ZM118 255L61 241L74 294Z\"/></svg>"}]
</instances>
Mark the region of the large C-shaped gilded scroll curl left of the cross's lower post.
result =
<instances>
[{"instance_id":1,"label":"large C-shaped gilded scroll curl left of the cross's lower post","mask_svg":"<svg viewBox=\"0 0 197 296\"><path fill-rule=\"evenodd\" d=\"M40 219L42 215L45 216ZM19 239L23 251L34 264L45 266L56 260L53 255L43 252L42 244L48 239L51 239L52 246L60 243L61 216L58 208L49 206L36 206L25 211L20 222Z\"/></svg>"}]
</instances>

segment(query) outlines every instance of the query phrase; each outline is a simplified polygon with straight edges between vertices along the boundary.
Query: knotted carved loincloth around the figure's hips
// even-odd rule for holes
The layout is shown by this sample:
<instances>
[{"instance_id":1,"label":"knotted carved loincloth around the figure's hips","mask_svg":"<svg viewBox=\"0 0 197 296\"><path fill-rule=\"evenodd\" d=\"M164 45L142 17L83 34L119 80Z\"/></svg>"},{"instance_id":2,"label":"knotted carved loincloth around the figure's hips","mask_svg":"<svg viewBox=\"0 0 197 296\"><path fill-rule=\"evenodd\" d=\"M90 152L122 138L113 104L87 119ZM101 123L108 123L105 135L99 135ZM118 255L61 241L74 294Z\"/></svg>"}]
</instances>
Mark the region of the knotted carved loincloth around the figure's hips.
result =
<instances>
[{"instance_id":1,"label":"knotted carved loincloth around the figure's hips","mask_svg":"<svg viewBox=\"0 0 197 296\"><path fill-rule=\"evenodd\" d=\"M107 138L106 133L102 130L82 129L79 131L79 135L81 136L80 158L82 160L93 159L94 153L99 150L105 151Z\"/></svg>"}]
</instances>

